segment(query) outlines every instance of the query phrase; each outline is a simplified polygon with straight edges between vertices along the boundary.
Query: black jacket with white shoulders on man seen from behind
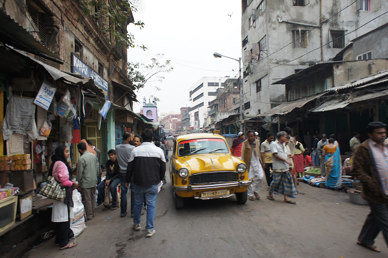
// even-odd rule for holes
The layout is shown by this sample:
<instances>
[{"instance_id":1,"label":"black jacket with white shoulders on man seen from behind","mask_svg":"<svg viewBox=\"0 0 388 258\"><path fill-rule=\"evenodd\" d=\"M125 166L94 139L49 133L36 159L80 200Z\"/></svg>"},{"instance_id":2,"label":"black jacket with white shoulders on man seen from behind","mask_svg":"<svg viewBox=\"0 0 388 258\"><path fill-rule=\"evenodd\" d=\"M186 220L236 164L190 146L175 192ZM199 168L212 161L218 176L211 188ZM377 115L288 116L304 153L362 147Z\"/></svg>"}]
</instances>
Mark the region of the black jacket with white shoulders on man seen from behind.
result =
<instances>
[{"instance_id":1,"label":"black jacket with white shoulders on man seen from behind","mask_svg":"<svg viewBox=\"0 0 388 258\"><path fill-rule=\"evenodd\" d=\"M136 147L129 158L126 182L138 186L154 186L163 180L166 173L165 153L153 143L144 142Z\"/></svg>"}]
</instances>

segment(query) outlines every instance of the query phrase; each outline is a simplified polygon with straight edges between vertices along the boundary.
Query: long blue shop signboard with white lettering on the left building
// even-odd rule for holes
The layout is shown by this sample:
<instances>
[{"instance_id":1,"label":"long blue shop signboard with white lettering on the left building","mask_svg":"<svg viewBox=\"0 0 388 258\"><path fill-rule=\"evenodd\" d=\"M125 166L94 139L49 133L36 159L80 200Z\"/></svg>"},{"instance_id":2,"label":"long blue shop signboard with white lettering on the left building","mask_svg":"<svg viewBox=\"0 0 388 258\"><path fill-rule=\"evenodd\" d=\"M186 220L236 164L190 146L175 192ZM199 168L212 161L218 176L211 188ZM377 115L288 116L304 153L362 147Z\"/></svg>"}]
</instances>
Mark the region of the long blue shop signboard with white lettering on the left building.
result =
<instances>
[{"instance_id":1,"label":"long blue shop signboard with white lettering on the left building","mask_svg":"<svg viewBox=\"0 0 388 258\"><path fill-rule=\"evenodd\" d=\"M102 78L96 71L81 61L74 53L71 54L71 68L73 74L80 74L92 78L94 84L104 91L105 98L108 99L108 82Z\"/></svg>"}]
</instances>

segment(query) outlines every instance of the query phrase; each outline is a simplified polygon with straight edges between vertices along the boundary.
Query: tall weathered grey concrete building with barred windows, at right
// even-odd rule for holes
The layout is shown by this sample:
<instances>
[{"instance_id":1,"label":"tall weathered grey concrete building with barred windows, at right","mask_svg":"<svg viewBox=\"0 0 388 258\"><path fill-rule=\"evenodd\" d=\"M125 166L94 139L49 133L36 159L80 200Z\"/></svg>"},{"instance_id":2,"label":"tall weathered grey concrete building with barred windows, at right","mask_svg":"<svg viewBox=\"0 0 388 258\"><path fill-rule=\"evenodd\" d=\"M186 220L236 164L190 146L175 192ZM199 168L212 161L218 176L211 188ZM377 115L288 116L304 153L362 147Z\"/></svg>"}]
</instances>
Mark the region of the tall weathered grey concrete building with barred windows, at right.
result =
<instances>
[{"instance_id":1,"label":"tall weathered grey concrete building with barred windows, at right","mask_svg":"<svg viewBox=\"0 0 388 258\"><path fill-rule=\"evenodd\" d=\"M384 24L386 16L379 15L388 9L385 0L241 2L245 119L286 100L284 85L271 85L276 79L332 60L353 38ZM315 90L330 87L328 79Z\"/></svg>"}]
</instances>

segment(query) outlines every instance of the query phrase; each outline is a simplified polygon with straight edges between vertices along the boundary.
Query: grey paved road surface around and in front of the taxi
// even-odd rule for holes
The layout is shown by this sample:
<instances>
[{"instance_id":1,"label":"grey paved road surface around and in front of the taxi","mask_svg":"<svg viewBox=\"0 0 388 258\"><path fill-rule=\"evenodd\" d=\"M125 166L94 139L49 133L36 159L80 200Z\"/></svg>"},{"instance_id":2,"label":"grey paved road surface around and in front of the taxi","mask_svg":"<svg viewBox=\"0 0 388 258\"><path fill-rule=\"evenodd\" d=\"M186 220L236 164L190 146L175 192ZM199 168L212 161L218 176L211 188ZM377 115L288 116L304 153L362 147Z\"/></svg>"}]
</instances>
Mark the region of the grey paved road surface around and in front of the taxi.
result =
<instances>
[{"instance_id":1,"label":"grey paved road surface around and in front of the taxi","mask_svg":"<svg viewBox=\"0 0 388 258\"><path fill-rule=\"evenodd\" d=\"M355 244L369 207L350 203L343 192L301 183L305 194L296 205L283 203L280 195L275 201L265 199L264 187L262 200L245 205L233 196L190 200L185 209L175 210L169 187L158 194L151 238L145 237L145 215L143 229L134 231L129 216L99 208L75 248L60 251L50 239L24 257L388 257L381 234L376 239L381 253Z\"/></svg>"}]
</instances>

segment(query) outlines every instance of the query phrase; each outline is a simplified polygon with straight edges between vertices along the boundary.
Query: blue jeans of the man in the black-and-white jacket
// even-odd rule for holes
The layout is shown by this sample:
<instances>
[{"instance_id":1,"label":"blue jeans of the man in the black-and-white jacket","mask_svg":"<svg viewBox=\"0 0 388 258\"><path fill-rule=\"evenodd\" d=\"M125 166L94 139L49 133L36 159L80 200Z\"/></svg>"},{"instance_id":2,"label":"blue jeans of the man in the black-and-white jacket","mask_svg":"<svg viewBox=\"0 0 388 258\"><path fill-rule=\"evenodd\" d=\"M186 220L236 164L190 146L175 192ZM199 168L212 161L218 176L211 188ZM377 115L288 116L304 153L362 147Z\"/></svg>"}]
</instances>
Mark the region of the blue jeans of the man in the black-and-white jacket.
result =
<instances>
[{"instance_id":1,"label":"blue jeans of the man in the black-and-white jacket","mask_svg":"<svg viewBox=\"0 0 388 258\"><path fill-rule=\"evenodd\" d=\"M147 225L145 229L154 229L156 196L158 195L158 185L138 186L133 184L135 193L135 205L133 206L133 224L140 224L143 202L147 203Z\"/></svg>"}]
</instances>

